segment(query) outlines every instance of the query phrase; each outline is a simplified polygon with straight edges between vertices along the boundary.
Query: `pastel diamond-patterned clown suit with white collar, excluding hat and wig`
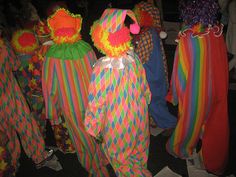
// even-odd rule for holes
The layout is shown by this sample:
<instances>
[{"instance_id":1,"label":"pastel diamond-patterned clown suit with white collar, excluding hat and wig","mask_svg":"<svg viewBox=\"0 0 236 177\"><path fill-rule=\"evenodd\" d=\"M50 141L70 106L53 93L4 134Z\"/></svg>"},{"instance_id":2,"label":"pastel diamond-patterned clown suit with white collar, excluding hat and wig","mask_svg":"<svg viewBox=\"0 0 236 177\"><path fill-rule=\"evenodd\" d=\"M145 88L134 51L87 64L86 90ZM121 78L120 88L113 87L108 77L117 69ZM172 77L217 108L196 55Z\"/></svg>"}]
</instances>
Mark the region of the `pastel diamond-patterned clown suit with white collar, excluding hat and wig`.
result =
<instances>
[{"instance_id":1,"label":"pastel diamond-patterned clown suit with white collar, excluding hat and wig","mask_svg":"<svg viewBox=\"0 0 236 177\"><path fill-rule=\"evenodd\" d=\"M103 150L117 176L151 176L148 106L150 91L137 56L99 59L89 86L85 126L102 136Z\"/></svg>"}]
</instances>

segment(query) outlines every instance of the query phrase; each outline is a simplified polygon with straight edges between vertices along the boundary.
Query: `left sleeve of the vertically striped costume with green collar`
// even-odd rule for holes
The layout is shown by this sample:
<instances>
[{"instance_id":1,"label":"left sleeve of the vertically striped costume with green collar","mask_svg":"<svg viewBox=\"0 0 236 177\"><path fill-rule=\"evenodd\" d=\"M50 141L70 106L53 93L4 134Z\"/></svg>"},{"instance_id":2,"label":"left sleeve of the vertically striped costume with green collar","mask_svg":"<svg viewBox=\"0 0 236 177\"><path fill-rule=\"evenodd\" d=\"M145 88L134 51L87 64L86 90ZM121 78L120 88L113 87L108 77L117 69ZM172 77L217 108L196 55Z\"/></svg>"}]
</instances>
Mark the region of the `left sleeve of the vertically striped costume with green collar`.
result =
<instances>
[{"instance_id":1,"label":"left sleeve of the vertically striped costume with green collar","mask_svg":"<svg viewBox=\"0 0 236 177\"><path fill-rule=\"evenodd\" d=\"M56 105L58 101L56 69L52 60L45 59L42 70L42 89L45 100L46 117L49 119L51 125L58 125L61 119L58 117ZM50 68L50 69L49 69Z\"/></svg>"}]
</instances>

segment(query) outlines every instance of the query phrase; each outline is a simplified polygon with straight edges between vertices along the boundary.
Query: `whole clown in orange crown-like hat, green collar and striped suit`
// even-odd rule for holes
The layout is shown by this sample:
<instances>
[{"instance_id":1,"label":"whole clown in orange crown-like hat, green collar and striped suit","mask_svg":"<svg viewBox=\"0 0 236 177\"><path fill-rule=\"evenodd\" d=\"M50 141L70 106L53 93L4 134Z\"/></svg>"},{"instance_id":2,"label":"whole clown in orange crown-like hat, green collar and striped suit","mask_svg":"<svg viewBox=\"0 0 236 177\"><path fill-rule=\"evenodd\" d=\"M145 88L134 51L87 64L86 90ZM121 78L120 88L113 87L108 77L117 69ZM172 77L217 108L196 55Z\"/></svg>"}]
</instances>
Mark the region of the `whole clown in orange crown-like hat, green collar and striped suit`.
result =
<instances>
[{"instance_id":1,"label":"whole clown in orange crown-like hat, green collar and striped suit","mask_svg":"<svg viewBox=\"0 0 236 177\"><path fill-rule=\"evenodd\" d=\"M82 18L61 8L47 19L54 44L46 52L42 88L46 117L61 123L62 112L78 160L93 176L109 176L108 163L95 139L83 124L88 104L88 85L96 55L81 39Z\"/></svg>"}]
</instances>

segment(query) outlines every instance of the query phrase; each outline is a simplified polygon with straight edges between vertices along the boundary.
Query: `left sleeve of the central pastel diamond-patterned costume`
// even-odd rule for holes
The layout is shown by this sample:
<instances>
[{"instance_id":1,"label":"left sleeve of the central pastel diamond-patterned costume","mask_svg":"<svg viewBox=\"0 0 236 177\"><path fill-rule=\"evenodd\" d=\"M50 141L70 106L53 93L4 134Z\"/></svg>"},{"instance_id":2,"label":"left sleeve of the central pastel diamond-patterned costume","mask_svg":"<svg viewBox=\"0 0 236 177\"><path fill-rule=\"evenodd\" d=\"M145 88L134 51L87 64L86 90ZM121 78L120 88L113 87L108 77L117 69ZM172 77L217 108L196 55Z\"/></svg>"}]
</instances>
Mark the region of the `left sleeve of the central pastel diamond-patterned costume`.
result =
<instances>
[{"instance_id":1,"label":"left sleeve of the central pastel diamond-patterned costume","mask_svg":"<svg viewBox=\"0 0 236 177\"><path fill-rule=\"evenodd\" d=\"M100 67L93 70L89 85L88 107L85 113L85 128L98 137L105 121L105 98L108 91L109 72Z\"/></svg>"}]
</instances>

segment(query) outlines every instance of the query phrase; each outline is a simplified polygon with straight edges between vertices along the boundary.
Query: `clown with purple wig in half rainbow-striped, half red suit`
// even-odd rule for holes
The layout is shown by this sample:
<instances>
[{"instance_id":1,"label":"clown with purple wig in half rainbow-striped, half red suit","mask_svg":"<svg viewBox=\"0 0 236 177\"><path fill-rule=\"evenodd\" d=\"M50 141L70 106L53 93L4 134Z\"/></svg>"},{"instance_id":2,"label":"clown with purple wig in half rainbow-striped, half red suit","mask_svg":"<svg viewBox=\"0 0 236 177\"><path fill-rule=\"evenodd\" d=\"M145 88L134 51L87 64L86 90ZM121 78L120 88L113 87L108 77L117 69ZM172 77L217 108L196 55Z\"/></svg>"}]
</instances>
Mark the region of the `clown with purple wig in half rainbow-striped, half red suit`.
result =
<instances>
[{"instance_id":1,"label":"clown with purple wig in half rainbow-striped, half red suit","mask_svg":"<svg viewBox=\"0 0 236 177\"><path fill-rule=\"evenodd\" d=\"M178 104L178 122L166 148L185 159L201 141L203 167L220 175L228 159L229 127L228 61L218 10L215 0L180 2L184 23L167 96Z\"/></svg>"}]
</instances>

